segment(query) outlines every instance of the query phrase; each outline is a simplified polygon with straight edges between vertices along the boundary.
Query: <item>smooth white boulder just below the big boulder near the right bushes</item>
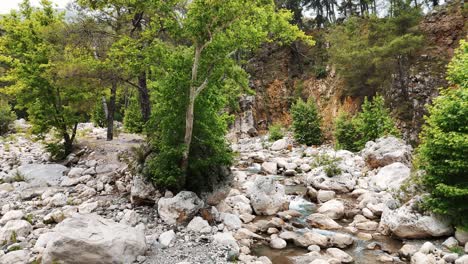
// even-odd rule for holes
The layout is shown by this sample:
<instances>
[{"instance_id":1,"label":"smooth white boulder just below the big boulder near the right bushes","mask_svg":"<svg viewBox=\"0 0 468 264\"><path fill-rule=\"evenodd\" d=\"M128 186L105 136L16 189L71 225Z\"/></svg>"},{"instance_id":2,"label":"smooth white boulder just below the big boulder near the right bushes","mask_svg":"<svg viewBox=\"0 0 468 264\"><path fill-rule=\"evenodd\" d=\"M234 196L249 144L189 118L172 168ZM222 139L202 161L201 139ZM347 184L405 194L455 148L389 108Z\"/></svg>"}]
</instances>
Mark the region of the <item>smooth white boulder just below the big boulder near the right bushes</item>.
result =
<instances>
[{"instance_id":1,"label":"smooth white boulder just below the big boulder near the right bushes","mask_svg":"<svg viewBox=\"0 0 468 264\"><path fill-rule=\"evenodd\" d=\"M395 162L381 168L376 175L371 176L370 185L376 191L398 190L410 174L410 168L401 162Z\"/></svg>"}]
</instances>

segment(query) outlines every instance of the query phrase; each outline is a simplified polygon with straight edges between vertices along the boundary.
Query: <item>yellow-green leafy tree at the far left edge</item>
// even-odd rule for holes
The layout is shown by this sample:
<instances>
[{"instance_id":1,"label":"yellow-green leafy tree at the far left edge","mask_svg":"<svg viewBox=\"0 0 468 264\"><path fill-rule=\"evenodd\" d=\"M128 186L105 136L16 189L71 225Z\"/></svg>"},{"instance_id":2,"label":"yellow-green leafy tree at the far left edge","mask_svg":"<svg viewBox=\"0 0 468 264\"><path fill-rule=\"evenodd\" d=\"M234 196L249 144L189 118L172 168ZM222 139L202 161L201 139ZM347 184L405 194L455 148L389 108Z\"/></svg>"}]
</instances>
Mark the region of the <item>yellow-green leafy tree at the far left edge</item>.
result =
<instances>
[{"instance_id":1,"label":"yellow-green leafy tree at the far left edge","mask_svg":"<svg viewBox=\"0 0 468 264\"><path fill-rule=\"evenodd\" d=\"M34 132L56 129L68 154L92 98L92 85L75 75L87 54L67 46L63 14L49 1L41 4L33 8L26 0L19 12L0 20L0 60L9 66L3 76L9 85L3 90L16 97L17 108L27 109Z\"/></svg>"}]
</instances>

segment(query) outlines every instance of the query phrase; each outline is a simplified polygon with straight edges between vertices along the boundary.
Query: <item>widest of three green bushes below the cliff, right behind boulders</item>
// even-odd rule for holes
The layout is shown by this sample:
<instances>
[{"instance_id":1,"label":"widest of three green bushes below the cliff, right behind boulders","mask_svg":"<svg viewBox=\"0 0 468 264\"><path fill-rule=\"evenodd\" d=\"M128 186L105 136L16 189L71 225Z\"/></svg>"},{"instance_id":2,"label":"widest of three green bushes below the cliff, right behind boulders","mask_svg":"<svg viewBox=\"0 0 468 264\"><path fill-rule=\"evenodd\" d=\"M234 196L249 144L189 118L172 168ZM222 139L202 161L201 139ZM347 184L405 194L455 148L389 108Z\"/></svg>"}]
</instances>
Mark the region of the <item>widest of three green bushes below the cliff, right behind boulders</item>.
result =
<instances>
[{"instance_id":1,"label":"widest of three green bushes below the cliff, right behind boulders","mask_svg":"<svg viewBox=\"0 0 468 264\"><path fill-rule=\"evenodd\" d=\"M390 116L390 111L385 107L385 101L380 95L375 96L372 101L366 97L362 104L362 111L356 115L352 122L357 133L355 149L358 150L361 150L368 141L387 135L400 135Z\"/></svg>"}]
</instances>

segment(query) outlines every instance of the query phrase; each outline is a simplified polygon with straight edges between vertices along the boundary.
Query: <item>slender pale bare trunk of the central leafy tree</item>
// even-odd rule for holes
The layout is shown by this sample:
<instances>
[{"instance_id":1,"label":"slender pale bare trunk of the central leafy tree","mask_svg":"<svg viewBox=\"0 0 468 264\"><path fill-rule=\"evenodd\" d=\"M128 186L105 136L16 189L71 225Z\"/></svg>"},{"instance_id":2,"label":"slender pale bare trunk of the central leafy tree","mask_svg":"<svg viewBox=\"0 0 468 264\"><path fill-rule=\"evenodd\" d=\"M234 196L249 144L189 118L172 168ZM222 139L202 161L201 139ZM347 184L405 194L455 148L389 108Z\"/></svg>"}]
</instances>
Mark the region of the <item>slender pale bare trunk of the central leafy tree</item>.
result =
<instances>
[{"instance_id":1,"label":"slender pale bare trunk of the central leafy tree","mask_svg":"<svg viewBox=\"0 0 468 264\"><path fill-rule=\"evenodd\" d=\"M184 137L185 150L184 150L182 161L181 161L181 169L184 172L186 172L188 168L190 144L192 143L193 114L194 114L195 98L196 98L196 90L197 90L196 82L197 82L198 66L200 63L201 52L202 52L201 46L197 46L195 48L195 56L194 56L193 65L192 65L192 80L191 80L190 91L189 91L189 103L187 105L187 113L185 115L185 137ZM181 183L181 185L182 184L185 185L185 183Z\"/></svg>"}]
</instances>

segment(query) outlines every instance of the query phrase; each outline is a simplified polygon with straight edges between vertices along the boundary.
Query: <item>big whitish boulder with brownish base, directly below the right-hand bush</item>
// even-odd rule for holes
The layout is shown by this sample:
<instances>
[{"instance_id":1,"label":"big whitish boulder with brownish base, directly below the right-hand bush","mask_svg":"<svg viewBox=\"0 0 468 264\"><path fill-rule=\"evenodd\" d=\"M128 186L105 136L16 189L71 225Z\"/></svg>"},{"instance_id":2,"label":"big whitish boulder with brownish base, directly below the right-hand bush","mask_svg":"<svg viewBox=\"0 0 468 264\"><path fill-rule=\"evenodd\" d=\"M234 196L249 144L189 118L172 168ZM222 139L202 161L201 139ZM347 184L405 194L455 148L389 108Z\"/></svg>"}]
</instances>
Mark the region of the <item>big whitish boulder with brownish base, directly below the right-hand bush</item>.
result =
<instances>
[{"instance_id":1,"label":"big whitish boulder with brownish base, directly below the right-hand bush","mask_svg":"<svg viewBox=\"0 0 468 264\"><path fill-rule=\"evenodd\" d=\"M378 168L401 162L406 165L411 164L410 145L406 145L401 139L389 136L369 141L362 150L362 157L371 168Z\"/></svg>"}]
</instances>

